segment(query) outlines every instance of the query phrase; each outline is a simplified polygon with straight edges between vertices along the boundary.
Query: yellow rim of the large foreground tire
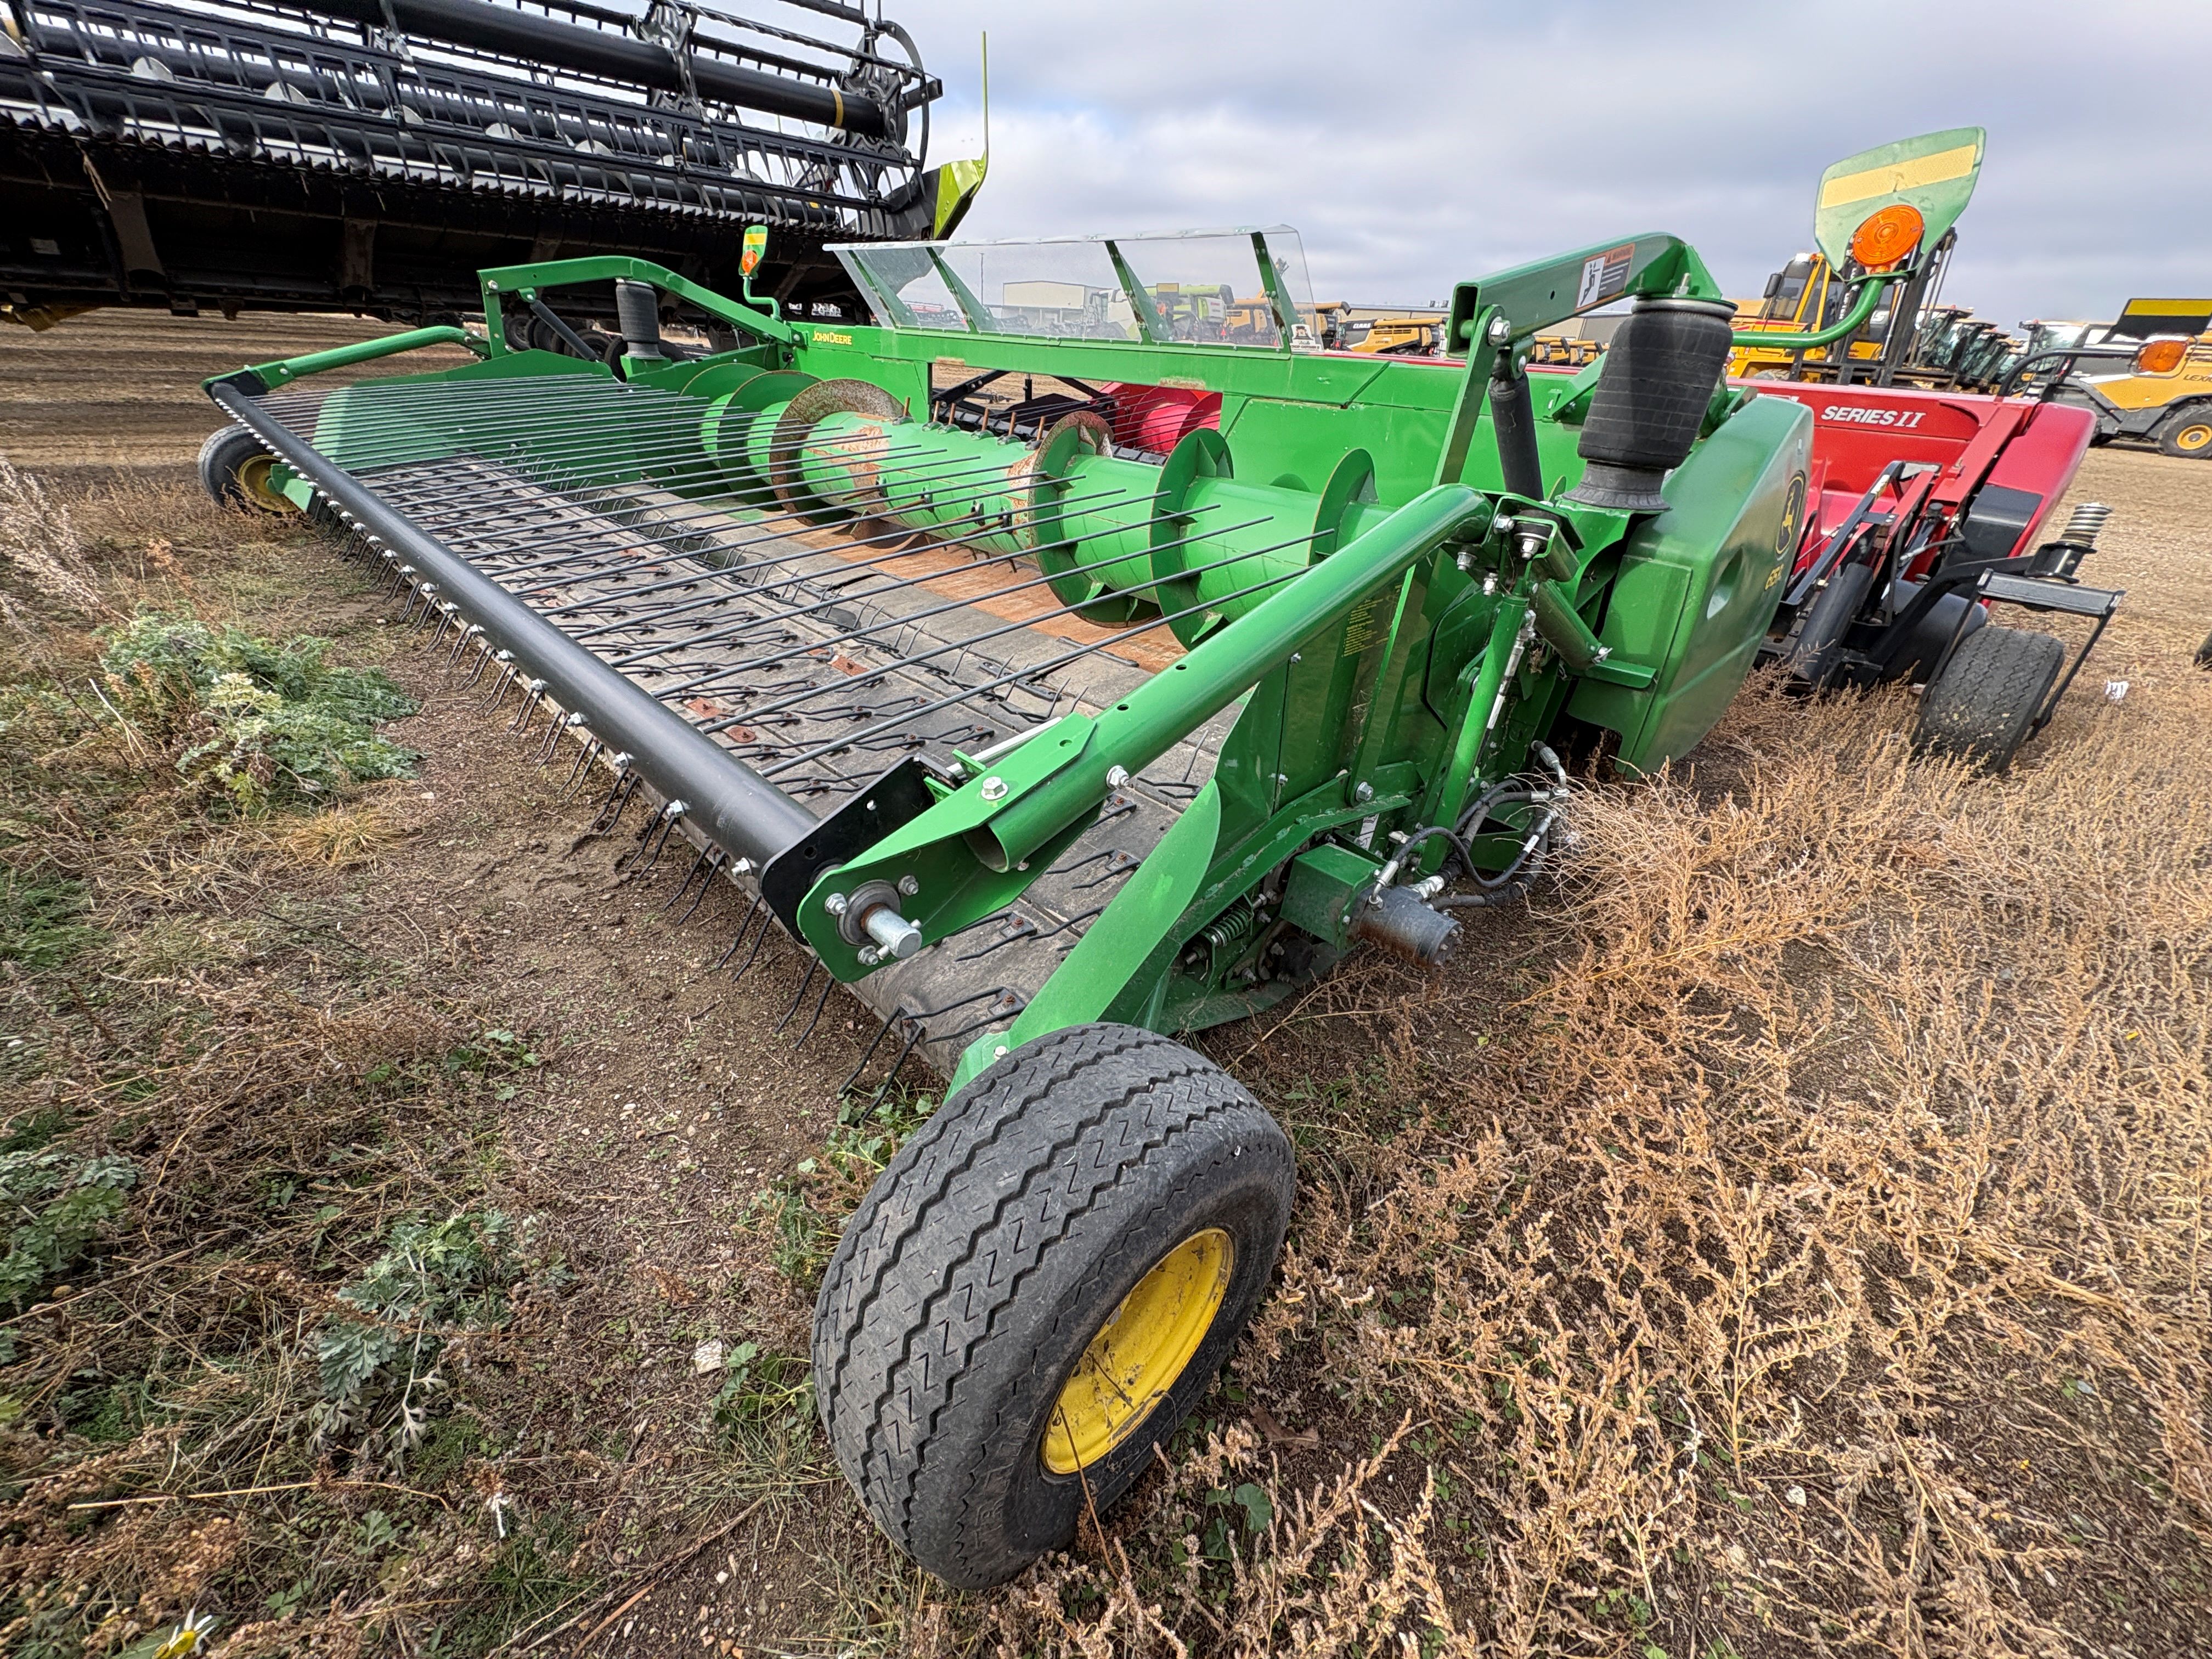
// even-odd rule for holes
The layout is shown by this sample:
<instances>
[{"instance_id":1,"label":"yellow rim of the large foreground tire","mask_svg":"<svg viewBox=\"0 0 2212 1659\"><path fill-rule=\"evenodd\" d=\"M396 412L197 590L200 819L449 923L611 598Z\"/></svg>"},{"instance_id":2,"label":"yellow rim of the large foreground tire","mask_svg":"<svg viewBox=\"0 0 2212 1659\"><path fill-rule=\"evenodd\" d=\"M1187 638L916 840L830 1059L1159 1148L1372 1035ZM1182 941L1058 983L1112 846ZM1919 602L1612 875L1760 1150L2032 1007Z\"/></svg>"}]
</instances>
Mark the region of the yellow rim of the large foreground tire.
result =
<instances>
[{"instance_id":1,"label":"yellow rim of the large foreground tire","mask_svg":"<svg viewBox=\"0 0 2212 1659\"><path fill-rule=\"evenodd\" d=\"M1212 1329L1234 1259L1228 1232L1208 1228L1137 1281L1060 1391L1044 1431L1046 1469L1073 1475L1137 1433Z\"/></svg>"}]
</instances>

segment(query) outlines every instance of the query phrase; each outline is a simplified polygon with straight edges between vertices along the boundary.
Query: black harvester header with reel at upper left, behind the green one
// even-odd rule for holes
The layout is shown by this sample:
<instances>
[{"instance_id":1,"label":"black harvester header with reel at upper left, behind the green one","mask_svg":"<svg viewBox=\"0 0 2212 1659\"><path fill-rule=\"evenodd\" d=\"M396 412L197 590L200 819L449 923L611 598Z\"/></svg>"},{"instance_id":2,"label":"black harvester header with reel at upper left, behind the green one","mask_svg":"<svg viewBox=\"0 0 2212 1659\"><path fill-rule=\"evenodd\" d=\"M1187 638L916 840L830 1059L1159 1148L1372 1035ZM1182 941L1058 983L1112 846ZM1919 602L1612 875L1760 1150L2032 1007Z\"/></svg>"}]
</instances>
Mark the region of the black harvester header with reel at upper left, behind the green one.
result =
<instances>
[{"instance_id":1,"label":"black harvester header with reel at upper left, behind the green one","mask_svg":"<svg viewBox=\"0 0 2212 1659\"><path fill-rule=\"evenodd\" d=\"M982 164L927 166L905 29L792 2L841 38L684 0L4 0L0 316L458 321L478 268L555 252L734 290L748 221L765 292L860 314L823 246L945 234Z\"/></svg>"}]
</instances>

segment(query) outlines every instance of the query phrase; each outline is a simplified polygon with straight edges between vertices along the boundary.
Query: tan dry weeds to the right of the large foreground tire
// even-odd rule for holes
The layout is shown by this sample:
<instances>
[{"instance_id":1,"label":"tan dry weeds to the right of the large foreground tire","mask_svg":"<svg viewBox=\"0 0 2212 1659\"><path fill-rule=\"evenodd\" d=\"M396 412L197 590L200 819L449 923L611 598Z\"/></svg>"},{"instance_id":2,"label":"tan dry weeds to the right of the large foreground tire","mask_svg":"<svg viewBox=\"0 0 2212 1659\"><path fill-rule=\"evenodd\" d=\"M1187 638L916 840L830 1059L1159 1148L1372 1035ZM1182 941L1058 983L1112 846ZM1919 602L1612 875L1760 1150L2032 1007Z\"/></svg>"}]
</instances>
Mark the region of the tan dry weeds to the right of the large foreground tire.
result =
<instances>
[{"instance_id":1,"label":"tan dry weeds to the right of the large foreground tire","mask_svg":"<svg viewBox=\"0 0 2212 1659\"><path fill-rule=\"evenodd\" d=\"M1389 1455L1232 1427L1104 1546L907 1630L1084 1655L2190 1650L2212 1608L2212 681L2161 684L2084 701L2002 781L1913 763L1905 697L1761 695L1703 779L1586 796L1502 1040L1440 1051L1400 1022L1334 1113L1285 1108L1332 1146L1237 1374ZM1261 1060L1261 1086L1307 1060ZM1201 1566L1243 1480L1274 1522Z\"/></svg>"}]
</instances>

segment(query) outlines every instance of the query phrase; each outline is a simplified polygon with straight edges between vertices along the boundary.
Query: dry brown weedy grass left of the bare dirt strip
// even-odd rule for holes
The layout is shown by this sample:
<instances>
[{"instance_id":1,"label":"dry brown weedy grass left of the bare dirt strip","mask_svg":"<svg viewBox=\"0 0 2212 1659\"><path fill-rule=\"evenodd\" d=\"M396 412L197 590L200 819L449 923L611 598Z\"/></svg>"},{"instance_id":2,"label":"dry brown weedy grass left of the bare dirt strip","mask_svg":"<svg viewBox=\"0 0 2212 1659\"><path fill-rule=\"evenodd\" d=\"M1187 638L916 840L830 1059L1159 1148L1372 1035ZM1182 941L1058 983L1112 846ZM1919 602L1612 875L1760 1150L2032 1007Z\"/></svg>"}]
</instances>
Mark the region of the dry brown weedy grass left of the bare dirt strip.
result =
<instances>
[{"instance_id":1,"label":"dry brown weedy grass left of the bare dirt strip","mask_svg":"<svg viewBox=\"0 0 2212 1659\"><path fill-rule=\"evenodd\" d=\"M24 502L46 518L9 542ZM252 529L274 542L239 546ZM473 1374L513 1369L546 1316L535 1283L445 1340L442 1411L405 1464L316 1431L338 1292L396 1221L484 1203L482 1117L520 1075L518 1037L338 929L332 872L409 832L414 785L210 818L100 699L100 595L265 628L263 566L299 535L0 469L0 593L27 628L0 633L0 1150L131 1170L128 1208L0 1301L0 1648L35 1659L150 1652L195 1606L221 1608L230 1655L358 1652L440 1619L473 1619L480 1648L588 1582L544 1515L502 1553L476 1489ZM0 1245L33 1214L7 1210ZM420 1566L385 1586L392 1559Z\"/></svg>"}]
</instances>

